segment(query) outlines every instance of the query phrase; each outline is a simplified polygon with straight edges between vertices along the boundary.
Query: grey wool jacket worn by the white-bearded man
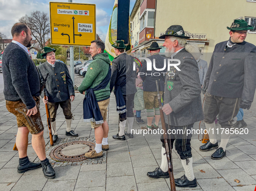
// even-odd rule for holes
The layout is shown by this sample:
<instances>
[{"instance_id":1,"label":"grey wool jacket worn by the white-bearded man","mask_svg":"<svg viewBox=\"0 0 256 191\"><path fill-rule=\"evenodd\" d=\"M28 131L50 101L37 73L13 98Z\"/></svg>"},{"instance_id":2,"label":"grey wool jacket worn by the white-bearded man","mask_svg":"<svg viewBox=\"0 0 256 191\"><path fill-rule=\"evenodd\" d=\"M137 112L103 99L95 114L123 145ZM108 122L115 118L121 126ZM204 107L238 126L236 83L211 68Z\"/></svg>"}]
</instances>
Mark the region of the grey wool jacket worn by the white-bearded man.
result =
<instances>
[{"instance_id":1,"label":"grey wool jacket worn by the white-bearded man","mask_svg":"<svg viewBox=\"0 0 256 191\"><path fill-rule=\"evenodd\" d=\"M184 126L204 119L201 103L201 84L198 65L191 53L185 49L178 52L173 59L179 59L178 71L171 68L175 75L165 75L164 104L169 103L173 112L169 114L169 125ZM169 71L167 71L169 72ZM168 118L165 116L165 122Z\"/></svg>"}]
</instances>

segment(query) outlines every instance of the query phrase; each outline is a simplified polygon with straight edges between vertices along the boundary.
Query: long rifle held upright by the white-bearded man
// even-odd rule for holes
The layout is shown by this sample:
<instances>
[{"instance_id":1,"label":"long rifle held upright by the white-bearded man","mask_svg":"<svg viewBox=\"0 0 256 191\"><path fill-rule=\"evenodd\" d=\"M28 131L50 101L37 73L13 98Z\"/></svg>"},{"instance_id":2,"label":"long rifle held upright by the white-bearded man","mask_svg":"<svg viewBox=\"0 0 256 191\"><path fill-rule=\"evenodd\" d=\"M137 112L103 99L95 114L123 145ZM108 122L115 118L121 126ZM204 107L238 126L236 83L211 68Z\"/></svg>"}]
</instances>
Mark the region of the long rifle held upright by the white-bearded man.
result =
<instances>
[{"instance_id":1,"label":"long rifle held upright by the white-bearded man","mask_svg":"<svg viewBox=\"0 0 256 191\"><path fill-rule=\"evenodd\" d=\"M159 83L157 80L156 80L156 88L157 88L157 99L158 99L158 103L159 103L162 129L164 130L163 136L164 136L164 143L165 143L165 152L166 152L165 154L166 154L167 161L168 161L168 172L169 172L169 177L170 177L171 191L176 191L173 169L172 169L172 145L167 136L167 131L166 131L166 127L165 127L165 118L164 118L164 113L162 110L161 96L159 94Z\"/></svg>"}]
</instances>

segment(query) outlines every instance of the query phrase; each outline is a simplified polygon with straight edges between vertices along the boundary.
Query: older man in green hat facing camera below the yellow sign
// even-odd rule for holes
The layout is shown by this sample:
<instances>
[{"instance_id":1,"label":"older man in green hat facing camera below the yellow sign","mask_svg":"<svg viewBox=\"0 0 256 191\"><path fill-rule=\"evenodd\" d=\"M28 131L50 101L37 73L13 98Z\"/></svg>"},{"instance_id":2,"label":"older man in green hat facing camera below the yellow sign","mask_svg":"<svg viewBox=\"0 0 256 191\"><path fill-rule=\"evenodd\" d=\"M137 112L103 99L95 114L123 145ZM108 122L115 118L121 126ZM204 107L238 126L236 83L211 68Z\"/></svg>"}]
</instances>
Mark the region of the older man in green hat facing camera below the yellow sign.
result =
<instances>
[{"instance_id":1,"label":"older man in green hat facing camera below the yellow sign","mask_svg":"<svg viewBox=\"0 0 256 191\"><path fill-rule=\"evenodd\" d=\"M56 50L50 47L44 47L43 49L45 53L42 53L41 56L46 59L46 62L38 66L38 72L41 83L44 81L47 73L49 73L45 85L46 100L43 98L43 102L45 104L49 104L49 113L52 128L54 130L52 139L55 143L58 139L55 118L59 105L61 106L66 119L65 135L73 137L78 136L77 133L71 130L71 122L73 118L71 112L71 101L73 101L75 98L75 90L73 81L69 75L68 67L61 62L56 62ZM41 95L43 95L43 93Z\"/></svg>"}]
</instances>

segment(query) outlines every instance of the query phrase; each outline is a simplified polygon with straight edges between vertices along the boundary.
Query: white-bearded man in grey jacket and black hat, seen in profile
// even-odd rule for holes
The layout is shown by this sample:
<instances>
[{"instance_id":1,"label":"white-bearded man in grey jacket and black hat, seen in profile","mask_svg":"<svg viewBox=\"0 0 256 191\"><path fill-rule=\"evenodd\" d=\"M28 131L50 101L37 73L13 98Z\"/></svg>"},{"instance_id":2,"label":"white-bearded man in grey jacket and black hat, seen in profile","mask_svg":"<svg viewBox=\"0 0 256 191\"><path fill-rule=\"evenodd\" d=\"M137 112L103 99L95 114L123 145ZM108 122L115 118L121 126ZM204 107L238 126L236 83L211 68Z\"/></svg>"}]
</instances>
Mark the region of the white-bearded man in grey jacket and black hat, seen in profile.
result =
<instances>
[{"instance_id":1,"label":"white-bearded man in grey jacket and black hat, seen in profile","mask_svg":"<svg viewBox=\"0 0 256 191\"><path fill-rule=\"evenodd\" d=\"M201 83L198 75L198 65L193 55L199 55L198 47L187 44L185 32L180 25L170 26L164 35L163 46L166 48L166 56L172 59L180 60L178 69L174 66L170 71L175 75L165 75L165 91L164 106L165 126L168 138L173 148L175 141L175 149L181 158L181 164L185 170L185 175L175 179L177 187L196 187L197 181L193 172L193 159L191 153L191 131L195 122L204 119L201 104ZM169 130L169 131L168 131ZM176 134L173 134L174 131ZM178 130L178 131L177 131ZM172 134L170 134L172 131ZM165 145L163 136L162 141L162 163L153 172L147 175L151 178L169 178L168 161L165 155Z\"/></svg>"}]
</instances>

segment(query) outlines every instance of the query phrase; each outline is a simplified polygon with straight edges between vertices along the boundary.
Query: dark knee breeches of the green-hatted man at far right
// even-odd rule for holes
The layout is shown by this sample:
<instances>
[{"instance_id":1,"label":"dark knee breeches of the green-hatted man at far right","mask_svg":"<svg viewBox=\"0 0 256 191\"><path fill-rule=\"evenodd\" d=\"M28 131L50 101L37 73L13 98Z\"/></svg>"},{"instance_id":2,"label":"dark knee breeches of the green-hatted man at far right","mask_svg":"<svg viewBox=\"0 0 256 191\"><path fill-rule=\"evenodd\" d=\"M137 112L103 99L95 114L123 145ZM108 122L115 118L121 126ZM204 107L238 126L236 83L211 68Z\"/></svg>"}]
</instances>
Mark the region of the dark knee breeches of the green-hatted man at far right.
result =
<instances>
[{"instance_id":1,"label":"dark knee breeches of the green-hatted man at far right","mask_svg":"<svg viewBox=\"0 0 256 191\"><path fill-rule=\"evenodd\" d=\"M241 98L218 97L205 93L204 122L211 124L219 114L219 124L222 128L230 128L233 118L237 116Z\"/></svg>"}]
</instances>

